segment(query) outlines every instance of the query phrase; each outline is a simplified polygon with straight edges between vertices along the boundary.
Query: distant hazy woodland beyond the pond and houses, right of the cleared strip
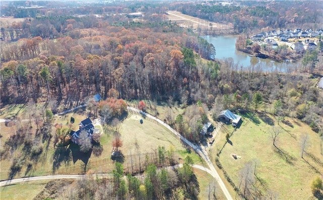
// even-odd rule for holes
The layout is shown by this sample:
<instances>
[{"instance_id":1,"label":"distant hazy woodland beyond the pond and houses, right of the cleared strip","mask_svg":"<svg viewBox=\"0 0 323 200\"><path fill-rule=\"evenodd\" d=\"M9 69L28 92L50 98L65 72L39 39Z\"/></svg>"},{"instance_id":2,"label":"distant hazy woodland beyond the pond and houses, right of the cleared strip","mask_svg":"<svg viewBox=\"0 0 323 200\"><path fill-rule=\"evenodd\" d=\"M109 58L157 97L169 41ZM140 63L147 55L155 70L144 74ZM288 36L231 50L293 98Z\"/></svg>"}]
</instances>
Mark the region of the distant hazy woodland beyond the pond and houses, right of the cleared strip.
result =
<instances>
[{"instance_id":1,"label":"distant hazy woodland beyond the pond and houses, right of the cleared strip","mask_svg":"<svg viewBox=\"0 0 323 200\"><path fill-rule=\"evenodd\" d=\"M213 4L212 4L213 3ZM218 5L217 5L218 4ZM174 4L171 10L218 23L232 23L236 32L259 30L265 27L296 28L306 24L312 29L321 24L322 6L307 2L240 2L239 5L222 6L220 3ZM307 12L311 11L311 12Z\"/></svg>"}]
</instances>

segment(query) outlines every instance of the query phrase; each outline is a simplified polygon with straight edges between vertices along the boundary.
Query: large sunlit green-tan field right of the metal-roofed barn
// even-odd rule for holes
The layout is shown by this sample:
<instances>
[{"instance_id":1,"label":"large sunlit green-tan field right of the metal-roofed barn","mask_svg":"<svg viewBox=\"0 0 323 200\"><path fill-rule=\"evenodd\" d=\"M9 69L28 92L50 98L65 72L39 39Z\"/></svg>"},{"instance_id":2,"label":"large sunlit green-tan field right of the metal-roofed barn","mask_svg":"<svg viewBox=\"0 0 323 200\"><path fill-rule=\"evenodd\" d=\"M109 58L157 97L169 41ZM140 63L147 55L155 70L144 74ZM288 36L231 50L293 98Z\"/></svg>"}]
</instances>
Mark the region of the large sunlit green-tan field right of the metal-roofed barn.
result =
<instances>
[{"instance_id":1,"label":"large sunlit green-tan field right of the metal-roofed barn","mask_svg":"<svg viewBox=\"0 0 323 200\"><path fill-rule=\"evenodd\" d=\"M275 191L280 199L308 199L313 196L310 189L312 179L323 173L320 138L301 121L291 118L285 120L288 125L282 122L278 125L277 119L271 115L256 114L250 120L243 117L241 127L230 137L232 145L227 143L223 148L220 162L236 185L239 185L240 170L246 163L256 161L256 175L262 182L261 185L258 181L257 185L260 185L262 192L266 189ZM223 131L220 141L216 143L218 152L225 143L226 133L232 132L232 128L224 127L227 130ZM275 144L283 154L273 145L273 127L281 131ZM309 136L310 146L306 148L307 154L304 153L302 159L300 138L305 134ZM242 158L235 160L231 154Z\"/></svg>"}]
</instances>

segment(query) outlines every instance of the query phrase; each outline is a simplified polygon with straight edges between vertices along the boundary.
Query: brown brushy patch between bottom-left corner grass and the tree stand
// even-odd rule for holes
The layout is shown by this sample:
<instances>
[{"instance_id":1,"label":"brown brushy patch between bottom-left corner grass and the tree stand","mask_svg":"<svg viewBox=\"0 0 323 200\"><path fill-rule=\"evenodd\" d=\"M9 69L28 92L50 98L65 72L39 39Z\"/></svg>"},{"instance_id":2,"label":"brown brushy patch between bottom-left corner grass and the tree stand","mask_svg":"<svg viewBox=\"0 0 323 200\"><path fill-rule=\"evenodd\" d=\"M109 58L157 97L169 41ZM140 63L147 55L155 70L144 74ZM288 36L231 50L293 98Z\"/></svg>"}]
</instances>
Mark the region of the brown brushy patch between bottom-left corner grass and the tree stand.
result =
<instances>
[{"instance_id":1,"label":"brown brushy patch between bottom-left corner grass and the tree stand","mask_svg":"<svg viewBox=\"0 0 323 200\"><path fill-rule=\"evenodd\" d=\"M37 194L34 200L55 199L63 192L64 187L72 184L74 180L52 180L49 181L45 188Z\"/></svg>"}]
</instances>

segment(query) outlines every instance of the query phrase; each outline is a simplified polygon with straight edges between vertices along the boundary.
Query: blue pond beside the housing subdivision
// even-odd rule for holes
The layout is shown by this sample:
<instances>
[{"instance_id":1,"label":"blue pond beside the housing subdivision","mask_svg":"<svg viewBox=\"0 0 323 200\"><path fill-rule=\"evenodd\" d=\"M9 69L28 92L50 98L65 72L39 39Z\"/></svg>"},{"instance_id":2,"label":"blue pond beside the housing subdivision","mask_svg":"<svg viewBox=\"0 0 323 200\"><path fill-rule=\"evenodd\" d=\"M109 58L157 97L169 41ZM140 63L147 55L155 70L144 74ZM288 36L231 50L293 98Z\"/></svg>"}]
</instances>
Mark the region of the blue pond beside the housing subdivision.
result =
<instances>
[{"instance_id":1,"label":"blue pond beside the housing subdivision","mask_svg":"<svg viewBox=\"0 0 323 200\"><path fill-rule=\"evenodd\" d=\"M213 44L216 48L215 59L232 58L235 64L238 64L239 68L261 68L263 72L286 72L288 70L296 70L299 63L291 62L276 62L270 59L260 59L257 57L250 57L249 54L239 52L236 50L236 36L205 36L209 43Z\"/></svg>"}]
</instances>

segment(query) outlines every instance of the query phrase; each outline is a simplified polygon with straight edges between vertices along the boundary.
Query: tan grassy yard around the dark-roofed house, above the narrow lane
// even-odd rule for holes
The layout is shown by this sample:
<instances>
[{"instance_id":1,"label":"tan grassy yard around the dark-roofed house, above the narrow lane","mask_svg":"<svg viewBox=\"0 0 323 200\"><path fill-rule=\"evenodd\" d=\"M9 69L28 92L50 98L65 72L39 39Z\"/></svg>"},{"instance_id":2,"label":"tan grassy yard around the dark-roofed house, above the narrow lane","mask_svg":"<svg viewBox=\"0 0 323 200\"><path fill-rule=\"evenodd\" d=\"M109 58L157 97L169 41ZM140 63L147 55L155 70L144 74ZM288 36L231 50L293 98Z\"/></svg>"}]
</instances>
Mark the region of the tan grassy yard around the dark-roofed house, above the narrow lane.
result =
<instances>
[{"instance_id":1,"label":"tan grassy yard around the dark-roofed house, above the narrow lane","mask_svg":"<svg viewBox=\"0 0 323 200\"><path fill-rule=\"evenodd\" d=\"M75 111L75 113L68 113L63 116L55 117L53 120L52 126L52 135L55 135L56 128L55 124L63 124L63 126L67 127L71 124L71 117L75 118L75 123L72 125L73 130L78 129L78 124L86 118L86 112L84 109L79 109ZM22 122L26 127L29 127L29 122ZM27 132L35 133L36 125L33 124L33 128L28 130ZM99 128L99 127L97 127ZM5 123L1 124L2 129L2 142L5 142L9 136L12 134L12 130L15 130L15 126L7 127ZM84 172L84 162L88 159L87 169L92 169L98 172L107 172L113 169L114 165L111 161L111 153L110 149L112 146L112 137L108 134L102 134L100 139L100 144L103 147L103 152L100 157L95 157L93 154L91 155L83 155L78 151L78 147L76 145L70 145L67 147L61 148L64 152L64 156L59 156L58 152L60 148L54 147L53 145L54 137L52 137L49 142L44 141L43 152L37 159L31 159L28 157L28 154L24 153L23 144L18 146L15 152L13 152L12 156L2 159L1 162L1 171L0 178L7 179L8 174L10 173L10 166L12 164L12 158L17 155L23 155L27 157L25 159L24 165L19 173L15 175L15 178L23 177L23 176L39 176L39 175L50 175L50 174L77 174ZM3 149L3 146L2 148ZM55 156L56 155L56 156ZM83 156L86 158L82 158ZM27 163L31 163L31 169L27 170Z\"/></svg>"}]
</instances>

